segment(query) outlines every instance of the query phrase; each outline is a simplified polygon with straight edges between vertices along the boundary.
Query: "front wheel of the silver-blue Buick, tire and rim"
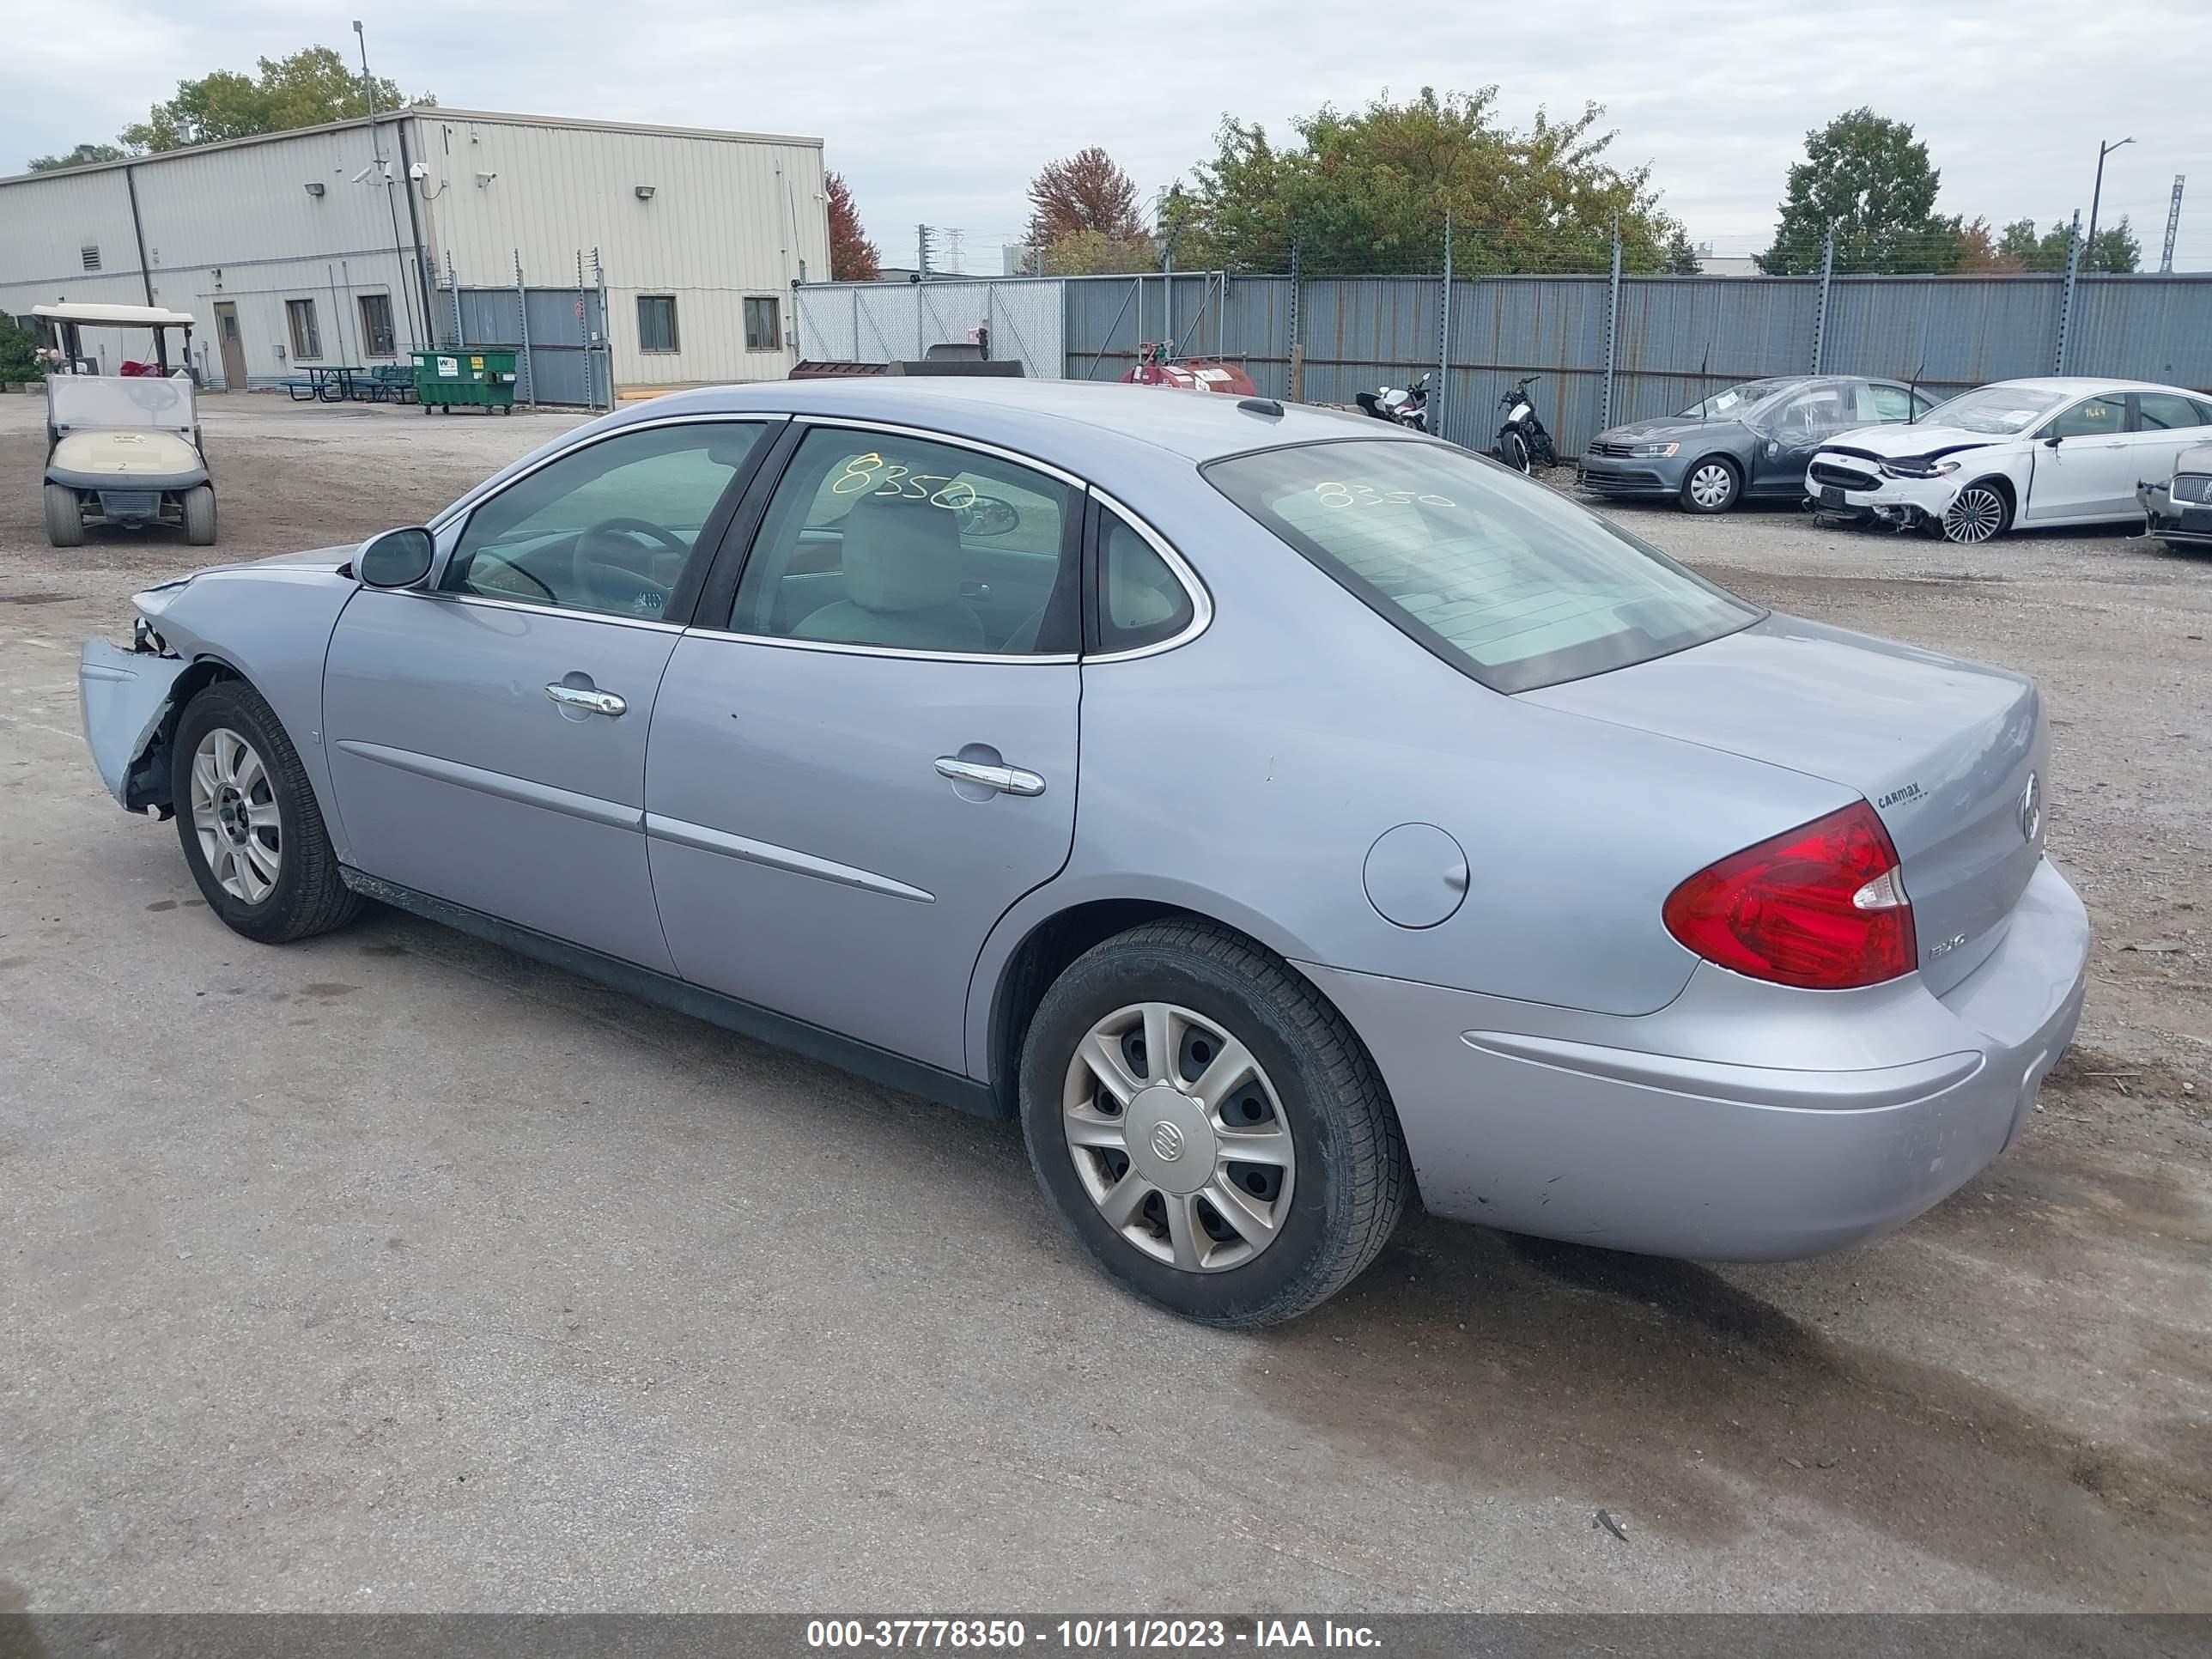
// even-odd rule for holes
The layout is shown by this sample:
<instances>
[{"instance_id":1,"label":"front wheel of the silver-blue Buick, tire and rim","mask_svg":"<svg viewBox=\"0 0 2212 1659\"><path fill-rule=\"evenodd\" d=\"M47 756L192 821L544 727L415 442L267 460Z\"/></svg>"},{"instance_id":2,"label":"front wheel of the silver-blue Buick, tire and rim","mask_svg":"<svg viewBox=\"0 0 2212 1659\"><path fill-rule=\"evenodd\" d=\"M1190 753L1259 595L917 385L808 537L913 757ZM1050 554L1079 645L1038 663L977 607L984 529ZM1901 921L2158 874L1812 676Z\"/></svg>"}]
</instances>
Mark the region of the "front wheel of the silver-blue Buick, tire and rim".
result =
<instances>
[{"instance_id":1,"label":"front wheel of the silver-blue Buick, tire and rim","mask_svg":"<svg viewBox=\"0 0 2212 1659\"><path fill-rule=\"evenodd\" d=\"M292 739L243 681L217 681L186 706L170 739L170 801L184 863L232 933L290 945L361 909Z\"/></svg>"}]
</instances>

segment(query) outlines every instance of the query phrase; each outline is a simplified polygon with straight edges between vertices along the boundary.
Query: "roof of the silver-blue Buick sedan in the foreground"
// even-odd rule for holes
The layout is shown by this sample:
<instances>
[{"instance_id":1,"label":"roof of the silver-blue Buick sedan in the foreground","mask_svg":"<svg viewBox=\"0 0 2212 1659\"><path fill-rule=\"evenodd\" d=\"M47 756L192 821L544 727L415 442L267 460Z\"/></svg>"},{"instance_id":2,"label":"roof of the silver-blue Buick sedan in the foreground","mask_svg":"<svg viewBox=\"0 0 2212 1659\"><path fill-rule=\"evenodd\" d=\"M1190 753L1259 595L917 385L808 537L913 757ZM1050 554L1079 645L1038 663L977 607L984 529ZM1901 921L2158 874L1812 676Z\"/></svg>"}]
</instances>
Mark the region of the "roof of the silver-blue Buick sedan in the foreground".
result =
<instances>
[{"instance_id":1,"label":"roof of the silver-blue Buick sedan in the foreground","mask_svg":"<svg viewBox=\"0 0 2212 1659\"><path fill-rule=\"evenodd\" d=\"M818 414L845 420L894 420L947 431L973 429L978 420L1004 429L1009 422L1053 429L1075 438L1082 429L1168 449L1206 462L1248 449L1314 442L1323 438L1409 438L1391 422L1343 409L1276 403L1265 414L1241 407L1256 403L1221 392L1177 387L1018 380L984 376L849 376L834 380L757 380L752 385L672 392L630 405L639 418L675 414Z\"/></svg>"}]
</instances>

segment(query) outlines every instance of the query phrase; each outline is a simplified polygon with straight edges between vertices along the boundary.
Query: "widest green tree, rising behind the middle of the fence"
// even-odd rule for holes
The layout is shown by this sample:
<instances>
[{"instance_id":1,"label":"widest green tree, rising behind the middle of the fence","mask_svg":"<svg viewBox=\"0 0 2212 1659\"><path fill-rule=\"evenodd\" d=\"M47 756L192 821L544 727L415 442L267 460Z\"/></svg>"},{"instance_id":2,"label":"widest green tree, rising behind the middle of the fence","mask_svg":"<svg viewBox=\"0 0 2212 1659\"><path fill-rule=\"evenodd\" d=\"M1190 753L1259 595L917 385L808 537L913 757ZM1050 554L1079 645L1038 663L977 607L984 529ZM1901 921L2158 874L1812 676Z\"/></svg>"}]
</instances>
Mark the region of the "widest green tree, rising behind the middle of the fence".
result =
<instances>
[{"instance_id":1,"label":"widest green tree, rising behind the middle of the fence","mask_svg":"<svg viewBox=\"0 0 2212 1659\"><path fill-rule=\"evenodd\" d=\"M1663 270L1681 226L1659 212L1650 170L1606 159L1613 133L1586 106L1526 131L1495 115L1498 88L1387 95L1360 111L1332 106L1292 122L1276 148L1256 122L1228 117L1188 195L1170 195L1164 234L1179 268L1438 270L1444 215L1453 270L1606 270L1613 226L1628 270Z\"/></svg>"}]
</instances>

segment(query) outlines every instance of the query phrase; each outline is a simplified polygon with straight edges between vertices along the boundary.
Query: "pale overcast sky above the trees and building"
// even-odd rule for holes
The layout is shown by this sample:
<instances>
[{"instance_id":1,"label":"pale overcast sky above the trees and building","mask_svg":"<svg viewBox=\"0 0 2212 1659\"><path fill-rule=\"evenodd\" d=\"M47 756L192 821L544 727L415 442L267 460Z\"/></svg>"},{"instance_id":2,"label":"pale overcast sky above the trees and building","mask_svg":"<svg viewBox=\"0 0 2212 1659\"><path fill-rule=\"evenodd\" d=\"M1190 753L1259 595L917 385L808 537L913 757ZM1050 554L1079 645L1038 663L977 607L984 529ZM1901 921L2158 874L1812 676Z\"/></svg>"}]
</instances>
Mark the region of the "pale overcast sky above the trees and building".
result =
<instances>
[{"instance_id":1,"label":"pale overcast sky above the trees and building","mask_svg":"<svg viewBox=\"0 0 2212 1659\"><path fill-rule=\"evenodd\" d=\"M1871 104L1942 168L1944 212L2135 219L2157 265L2177 173L2177 265L2212 268L2212 7L2205 0L11 0L0 173L113 139L179 77L310 42L465 108L827 139L887 263L958 226L969 270L1026 217L1040 161L1104 144L1150 195L1212 150L1223 113L1285 133L1325 102L1498 86L1500 113L1606 106L1613 157L1717 252L1774 228L1805 128Z\"/></svg>"}]
</instances>

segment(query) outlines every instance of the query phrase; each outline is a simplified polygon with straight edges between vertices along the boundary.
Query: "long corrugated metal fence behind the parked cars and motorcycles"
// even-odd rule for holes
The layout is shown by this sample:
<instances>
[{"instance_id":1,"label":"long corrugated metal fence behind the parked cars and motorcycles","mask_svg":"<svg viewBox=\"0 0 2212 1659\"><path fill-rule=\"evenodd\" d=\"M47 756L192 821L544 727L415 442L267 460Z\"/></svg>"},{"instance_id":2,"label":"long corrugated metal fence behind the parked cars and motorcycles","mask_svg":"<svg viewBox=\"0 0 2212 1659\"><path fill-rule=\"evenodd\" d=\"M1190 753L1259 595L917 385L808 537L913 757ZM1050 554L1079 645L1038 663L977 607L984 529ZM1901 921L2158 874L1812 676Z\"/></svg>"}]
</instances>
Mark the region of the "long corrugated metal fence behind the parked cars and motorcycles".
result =
<instances>
[{"instance_id":1,"label":"long corrugated metal fence behind the parked cars and motorcycles","mask_svg":"<svg viewBox=\"0 0 2212 1659\"><path fill-rule=\"evenodd\" d=\"M889 363L991 323L1029 374L1117 380L1144 341L1239 363L1265 396L1352 403L1444 369L1442 431L1489 447L1498 398L1540 374L1562 453L1765 374L1918 378L1936 394L2066 374L2212 392L2212 276L1048 276L818 283L801 356ZM1608 314L1619 305L1608 363ZM1004 327L1020 319L1020 327ZM1294 356L1298 361L1292 385Z\"/></svg>"}]
</instances>

